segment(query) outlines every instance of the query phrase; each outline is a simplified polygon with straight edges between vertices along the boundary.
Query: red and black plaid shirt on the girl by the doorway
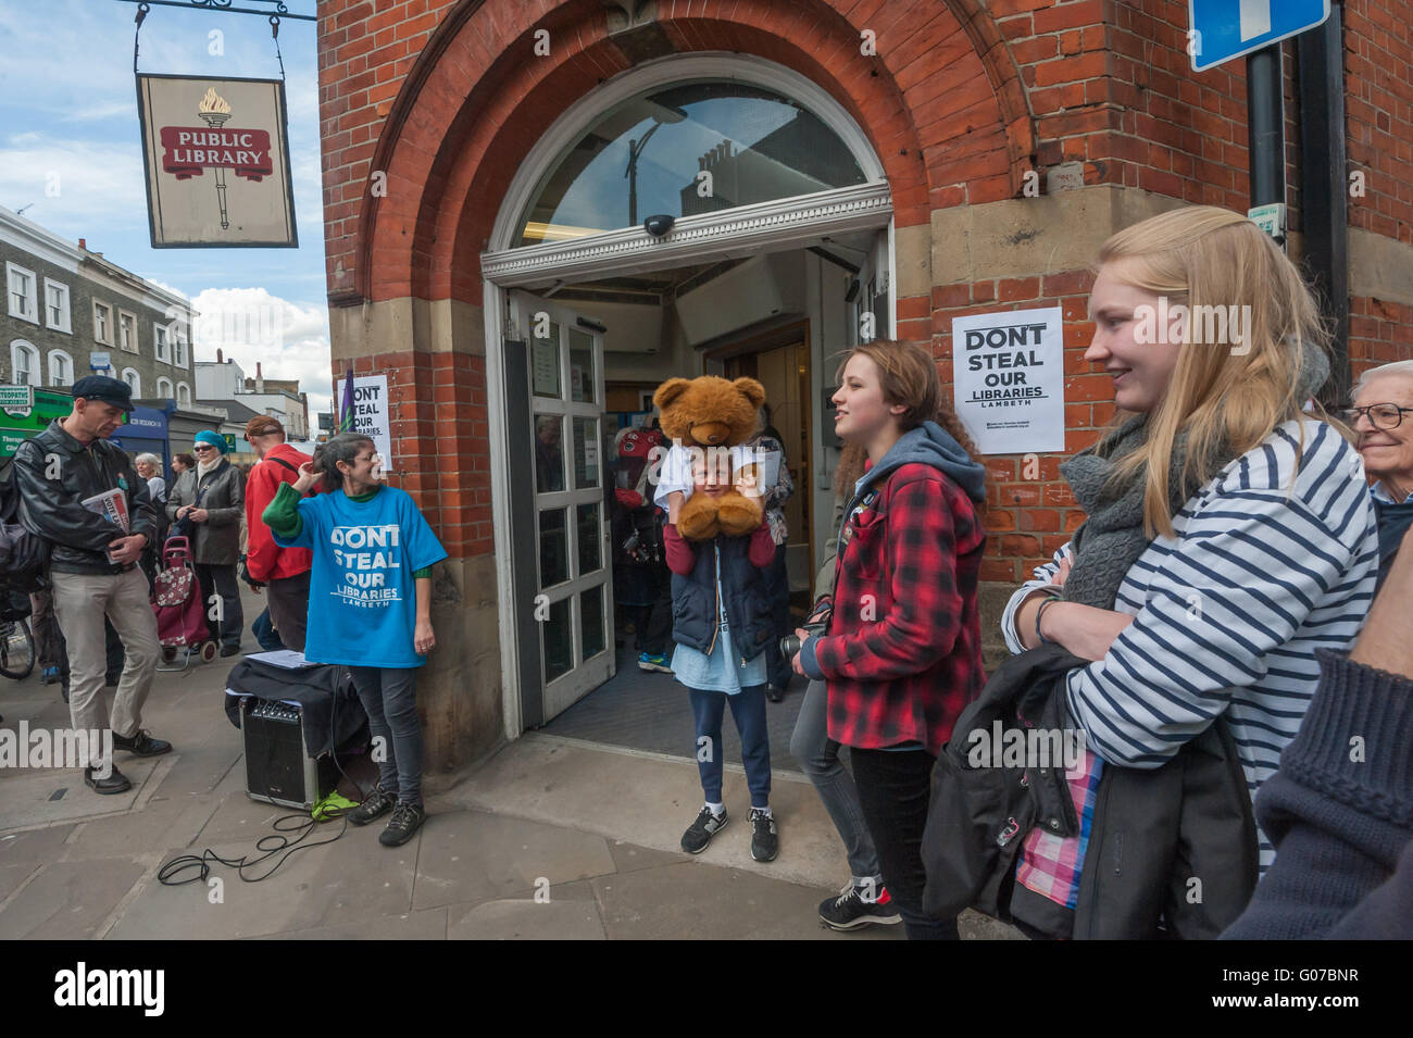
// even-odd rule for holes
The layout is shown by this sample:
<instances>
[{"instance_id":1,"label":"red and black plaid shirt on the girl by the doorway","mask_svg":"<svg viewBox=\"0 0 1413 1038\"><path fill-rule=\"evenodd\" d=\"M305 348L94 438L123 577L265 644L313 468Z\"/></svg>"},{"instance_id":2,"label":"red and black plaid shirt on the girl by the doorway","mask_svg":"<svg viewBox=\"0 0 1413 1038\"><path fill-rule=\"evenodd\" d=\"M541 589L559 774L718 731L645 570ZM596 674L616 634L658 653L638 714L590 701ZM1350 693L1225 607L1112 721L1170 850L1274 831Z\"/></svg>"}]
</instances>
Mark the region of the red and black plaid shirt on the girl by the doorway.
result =
<instances>
[{"instance_id":1,"label":"red and black plaid shirt on the girl by the doorway","mask_svg":"<svg viewBox=\"0 0 1413 1038\"><path fill-rule=\"evenodd\" d=\"M976 580L985 532L942 472L909 463L845 520L828 633L814 657L829 686L829 739L937 754L978 696Z\"/></svg>"}]
</instances>

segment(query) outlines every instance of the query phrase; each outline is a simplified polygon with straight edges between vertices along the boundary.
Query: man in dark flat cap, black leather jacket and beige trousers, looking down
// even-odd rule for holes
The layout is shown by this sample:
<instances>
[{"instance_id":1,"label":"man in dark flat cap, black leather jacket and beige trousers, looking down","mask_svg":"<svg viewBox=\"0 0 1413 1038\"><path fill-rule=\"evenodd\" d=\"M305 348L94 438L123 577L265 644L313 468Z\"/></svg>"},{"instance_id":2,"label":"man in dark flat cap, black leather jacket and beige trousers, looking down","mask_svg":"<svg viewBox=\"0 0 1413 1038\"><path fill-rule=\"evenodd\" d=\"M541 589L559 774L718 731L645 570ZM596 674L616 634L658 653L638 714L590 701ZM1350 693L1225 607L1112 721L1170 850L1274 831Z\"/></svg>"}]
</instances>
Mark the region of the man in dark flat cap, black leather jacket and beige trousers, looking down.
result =
<instances>
[{"instance_id":1,"label":"man in dark flat cap, black leather jacket and beige trousers, looking down","mask_svg":"<svg viewBox=\"0 0 1413 1038\"><path fill-rule=\"evenodd\" d=\"M20 521L52 545L54 612L69 652L69 720L78 732L112 729L113 746L138 757L171 750L141 727L143 703L157 669L157 617L143 548L157 534L147 480L107 438L133 410L126 383L88 376L73 383L73 411L27 439L14 455ZM127 662L113 709L103 696L103 617L123 641ZM75 740L85 744L83 740ZM89 754L83 781L120 794L131 782L110 760Z\"/></svg>"}]
</instances>

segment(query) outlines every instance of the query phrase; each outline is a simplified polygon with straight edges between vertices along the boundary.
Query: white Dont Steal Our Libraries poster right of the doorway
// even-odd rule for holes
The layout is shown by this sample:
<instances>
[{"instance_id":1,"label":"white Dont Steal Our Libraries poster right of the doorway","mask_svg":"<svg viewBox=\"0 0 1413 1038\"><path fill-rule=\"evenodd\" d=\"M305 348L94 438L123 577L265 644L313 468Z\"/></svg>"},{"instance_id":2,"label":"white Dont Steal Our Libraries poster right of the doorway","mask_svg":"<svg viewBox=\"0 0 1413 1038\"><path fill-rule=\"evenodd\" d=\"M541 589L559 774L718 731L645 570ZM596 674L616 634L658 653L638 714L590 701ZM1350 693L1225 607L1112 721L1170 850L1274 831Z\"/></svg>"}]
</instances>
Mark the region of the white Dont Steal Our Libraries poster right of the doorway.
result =
<instances>
[{"instance_id":1,"label":"white Dont Steal Our Libraries poster right of the doorway","mask_svg":"<svg viewBox=\"0 0 1413 1038\"><path fill-rule=\"evenodd\" d=\"M983 455L1064 451L1060 308L952 318L952 387Z\"/></svg>"}]
</instances>

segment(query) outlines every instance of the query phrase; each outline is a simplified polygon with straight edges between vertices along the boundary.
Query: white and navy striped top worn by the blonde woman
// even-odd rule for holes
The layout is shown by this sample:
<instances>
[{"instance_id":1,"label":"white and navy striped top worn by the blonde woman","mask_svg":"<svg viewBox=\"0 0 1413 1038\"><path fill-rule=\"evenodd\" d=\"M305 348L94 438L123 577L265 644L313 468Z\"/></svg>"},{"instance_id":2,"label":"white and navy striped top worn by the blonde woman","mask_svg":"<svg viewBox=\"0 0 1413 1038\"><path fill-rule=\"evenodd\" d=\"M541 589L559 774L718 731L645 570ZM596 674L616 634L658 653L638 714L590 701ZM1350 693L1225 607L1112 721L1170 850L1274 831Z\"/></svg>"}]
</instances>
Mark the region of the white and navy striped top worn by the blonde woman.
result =
<instances>
[{"instance_id":1,"label":"white and navy striped top worn by the blonde woman","mask_svg":"<svg viewBox=\"0 0 1413 1038\"><path fill-rule=\"evenodd\" d=\"M1314 651L1354 643L1378 576L1364 462L1323 422L1304 419L1303 451L1300 435L1284 422L1231 462L1125 575L1113 607L1133 623L1068 676L1070 713L1102 760L1160 767L1225 712L1252 798L1276 771L1320 682ZM1065 544L1010 597L1012 652L1020 602L1070 555ZM1259 836L1265 870L1275 849Z\"/></svg>"}]
</instances>

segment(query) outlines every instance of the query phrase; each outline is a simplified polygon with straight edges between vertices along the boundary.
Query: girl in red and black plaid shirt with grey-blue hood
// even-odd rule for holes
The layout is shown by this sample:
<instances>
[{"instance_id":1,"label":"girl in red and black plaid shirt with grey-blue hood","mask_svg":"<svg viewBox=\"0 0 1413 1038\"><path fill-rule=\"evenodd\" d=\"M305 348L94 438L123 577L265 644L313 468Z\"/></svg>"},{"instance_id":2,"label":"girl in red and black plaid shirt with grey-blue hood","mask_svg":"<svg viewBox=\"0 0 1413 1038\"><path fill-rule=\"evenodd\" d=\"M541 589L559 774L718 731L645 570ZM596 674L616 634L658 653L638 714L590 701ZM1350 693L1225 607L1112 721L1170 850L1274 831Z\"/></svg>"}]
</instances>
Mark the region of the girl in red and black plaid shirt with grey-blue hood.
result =
<instances>
[{"instance_id":1,"label":"girl in red and black plaid shirt with grey-blue hood","mask_svg":"<svg viewBox=\"0 0 1413 1038\"><path fill-rule=\"evenodd\" d=\"M923 915L920 846L933 764L985 684L976 609L985 469L942 402L924 346L855 347L834 402L835 431L863 446L869 469L845 507L829 626L793 665L828 684L829 739L851 747L907 936L955 939L957 919Z\"/></svg>"}]
</instances>

